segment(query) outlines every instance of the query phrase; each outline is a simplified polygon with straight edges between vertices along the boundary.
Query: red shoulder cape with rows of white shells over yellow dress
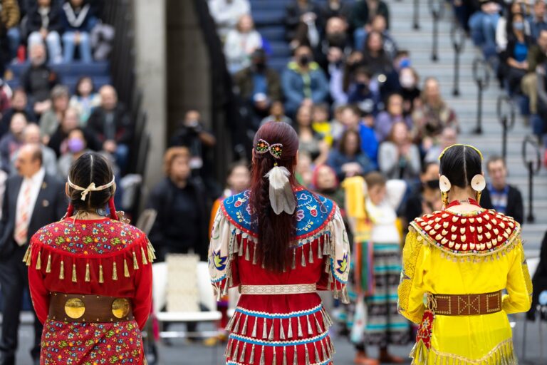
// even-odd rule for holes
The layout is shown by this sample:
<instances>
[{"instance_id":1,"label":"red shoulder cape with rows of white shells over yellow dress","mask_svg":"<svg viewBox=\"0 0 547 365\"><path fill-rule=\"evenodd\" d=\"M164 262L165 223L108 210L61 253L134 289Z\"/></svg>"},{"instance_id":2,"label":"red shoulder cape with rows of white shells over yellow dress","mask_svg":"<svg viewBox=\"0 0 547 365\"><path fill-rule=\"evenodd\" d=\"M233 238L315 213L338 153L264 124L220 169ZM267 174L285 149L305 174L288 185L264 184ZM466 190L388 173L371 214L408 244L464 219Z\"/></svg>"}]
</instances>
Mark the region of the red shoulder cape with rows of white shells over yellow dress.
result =
<instances>
[{"instance_id":1,"label":"red shoulder cape with rows of white shells over yellow dress","mask_svg":"<svg viewBox=\"0 0 547 365\"><path fill-rule=\"evenodd\" d=\"M454 257L494 257L510 249L521 226L512 217L495 210L457 213L433 212L416 218L410 229L445 254Z\"/></svg>"}]
</instances>

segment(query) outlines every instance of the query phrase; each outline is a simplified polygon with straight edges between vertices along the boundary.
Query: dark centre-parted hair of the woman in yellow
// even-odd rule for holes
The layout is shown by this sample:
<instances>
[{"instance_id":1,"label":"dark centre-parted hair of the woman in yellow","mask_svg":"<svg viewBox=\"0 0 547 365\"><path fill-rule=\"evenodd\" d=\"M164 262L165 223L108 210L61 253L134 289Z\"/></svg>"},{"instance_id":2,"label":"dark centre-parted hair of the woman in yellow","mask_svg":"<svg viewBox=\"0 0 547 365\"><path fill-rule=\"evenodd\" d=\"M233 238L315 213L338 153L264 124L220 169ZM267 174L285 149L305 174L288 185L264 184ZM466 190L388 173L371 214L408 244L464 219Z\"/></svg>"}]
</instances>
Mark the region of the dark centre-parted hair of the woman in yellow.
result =
<instances>
[{"instance_id":1,"label":"dark centre-parted hair of the woman in yellow","mask_svg":"<svg viewBox=\"0 0 547 365\"><path fill-rule=\"evenodd\" d=\"M482 156L469 145L453 145L439 159L440 174L446 176L452 186L471 186L474 176L482 173Z\"/></svg>"}]
</instances>

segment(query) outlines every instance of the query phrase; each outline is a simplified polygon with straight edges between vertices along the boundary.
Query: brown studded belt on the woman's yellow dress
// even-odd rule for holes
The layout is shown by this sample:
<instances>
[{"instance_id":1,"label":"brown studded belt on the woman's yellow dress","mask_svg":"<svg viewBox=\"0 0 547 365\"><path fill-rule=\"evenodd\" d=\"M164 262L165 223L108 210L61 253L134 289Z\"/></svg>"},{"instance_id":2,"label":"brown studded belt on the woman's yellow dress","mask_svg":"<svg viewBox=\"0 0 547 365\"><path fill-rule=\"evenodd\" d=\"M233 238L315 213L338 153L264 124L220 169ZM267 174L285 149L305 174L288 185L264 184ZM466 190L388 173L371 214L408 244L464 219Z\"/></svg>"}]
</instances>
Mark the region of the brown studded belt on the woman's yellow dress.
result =
<instances>
[{"instance_id":1,"label":"brown studded belt on the woman's yellow dress","mask_svg":"<svg viewBox=\"0 0 547 365\"><path fill-rule=\"evenodd\" d=\"M474 316L501 311L501 290L485 294L432 294L434 312L444 316Z\"/></svg>"}]
</instances>

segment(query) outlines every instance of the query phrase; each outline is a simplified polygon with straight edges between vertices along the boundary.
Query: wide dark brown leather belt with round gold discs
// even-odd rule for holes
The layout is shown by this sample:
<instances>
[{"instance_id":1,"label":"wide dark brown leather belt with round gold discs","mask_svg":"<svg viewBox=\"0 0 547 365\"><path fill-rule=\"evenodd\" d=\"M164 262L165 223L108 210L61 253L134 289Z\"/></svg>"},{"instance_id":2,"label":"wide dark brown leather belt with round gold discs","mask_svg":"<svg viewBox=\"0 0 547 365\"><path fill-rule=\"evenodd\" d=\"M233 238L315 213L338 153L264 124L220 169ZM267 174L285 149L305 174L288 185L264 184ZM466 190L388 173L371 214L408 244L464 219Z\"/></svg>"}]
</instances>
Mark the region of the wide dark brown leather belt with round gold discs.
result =
<instances>
[{"instance_id":1,"label":"wide dark brown leather belt with round gold discs","mask_svg":"<svg viewBox=\"0 0 547 365\"><path fill-rule=\"evenodd\" d=\"M64 322L125 322L134 319L127 298L51 293L48 319Z\"/></svg>"}]
</instances>

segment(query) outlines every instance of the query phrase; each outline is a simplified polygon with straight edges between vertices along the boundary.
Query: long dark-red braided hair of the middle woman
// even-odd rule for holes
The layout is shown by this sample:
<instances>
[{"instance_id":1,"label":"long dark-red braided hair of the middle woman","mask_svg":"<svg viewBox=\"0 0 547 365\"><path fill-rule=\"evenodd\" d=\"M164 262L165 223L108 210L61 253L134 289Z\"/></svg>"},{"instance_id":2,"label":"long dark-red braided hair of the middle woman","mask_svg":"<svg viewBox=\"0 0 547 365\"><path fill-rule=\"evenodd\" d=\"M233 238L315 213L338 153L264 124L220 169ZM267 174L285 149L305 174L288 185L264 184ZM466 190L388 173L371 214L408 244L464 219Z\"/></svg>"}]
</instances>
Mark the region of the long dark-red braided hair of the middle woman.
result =
<instances>
[{"instance_id":1,"label":"long dark-red braided hair of the middle woman","mask_svg":"<svg viewBox=\"0 0 547 365\"><path fill-rule=\"evenodd\" d=\"M260 141L269 145L280 144L281 154L278 158L272 153L257 152ZM283 122L264 124L254 135L253 165L251 168L251 196L249 205L257 220L259 245L257 255L264 266L274 272L282 272L289 262L291 239L296 226L294 214L283 211L279 214L273 211L270 200L270 180L266 174L274 166L286 168L289 175L288 183L296 185L294 169L296 168L296 153L298 152L298 135L296 131Z\"/></svg>"}]
</instances>

